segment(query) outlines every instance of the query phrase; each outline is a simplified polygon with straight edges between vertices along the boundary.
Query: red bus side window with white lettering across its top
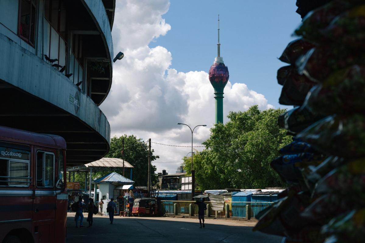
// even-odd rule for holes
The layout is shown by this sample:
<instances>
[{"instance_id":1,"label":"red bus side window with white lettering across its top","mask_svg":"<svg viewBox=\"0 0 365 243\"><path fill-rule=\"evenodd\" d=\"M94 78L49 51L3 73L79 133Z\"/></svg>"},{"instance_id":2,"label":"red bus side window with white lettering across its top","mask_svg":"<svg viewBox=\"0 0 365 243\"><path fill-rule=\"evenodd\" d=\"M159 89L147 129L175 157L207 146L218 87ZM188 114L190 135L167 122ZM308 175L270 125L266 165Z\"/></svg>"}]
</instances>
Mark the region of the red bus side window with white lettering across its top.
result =
<instances>
[{"instance_id":1,"label":"red bus side window with white lettering across its top","mask_svg":"<svg viewBox=\"0 0 365 243\"><path fill-rule=\"evenodd\" d=\"M0 147L0 186L28 187L30 152Z\"/></svg>"}]
</instances>

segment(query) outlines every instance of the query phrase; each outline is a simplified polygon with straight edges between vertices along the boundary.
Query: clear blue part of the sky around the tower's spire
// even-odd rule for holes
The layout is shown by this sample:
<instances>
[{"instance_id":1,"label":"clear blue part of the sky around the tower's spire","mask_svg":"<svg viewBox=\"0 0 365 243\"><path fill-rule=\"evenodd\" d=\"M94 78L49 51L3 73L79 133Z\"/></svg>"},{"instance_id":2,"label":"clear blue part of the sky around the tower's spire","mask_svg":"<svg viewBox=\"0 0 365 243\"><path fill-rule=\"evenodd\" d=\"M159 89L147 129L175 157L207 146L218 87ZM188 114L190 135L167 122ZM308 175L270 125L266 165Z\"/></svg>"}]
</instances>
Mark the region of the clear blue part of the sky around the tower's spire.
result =
<instances>
[{"instance_id":1,"label":"clear blue part of the sky around the tower's spire","mask_svg":"<svg viewBox=\"0 0 365 243\"><path fill-rule=\"evenodd\" d=\"M221 56L232 83L245 83L279 105L281 86L276 71L285 63L277 58L301 18L295 0L172 0L162 15L171 30L149 44L172 53L171 68L206 71L217 55L217 15L220 15ZM289 107L287 107L289 108Z\"/></svg>"}]
</instances>

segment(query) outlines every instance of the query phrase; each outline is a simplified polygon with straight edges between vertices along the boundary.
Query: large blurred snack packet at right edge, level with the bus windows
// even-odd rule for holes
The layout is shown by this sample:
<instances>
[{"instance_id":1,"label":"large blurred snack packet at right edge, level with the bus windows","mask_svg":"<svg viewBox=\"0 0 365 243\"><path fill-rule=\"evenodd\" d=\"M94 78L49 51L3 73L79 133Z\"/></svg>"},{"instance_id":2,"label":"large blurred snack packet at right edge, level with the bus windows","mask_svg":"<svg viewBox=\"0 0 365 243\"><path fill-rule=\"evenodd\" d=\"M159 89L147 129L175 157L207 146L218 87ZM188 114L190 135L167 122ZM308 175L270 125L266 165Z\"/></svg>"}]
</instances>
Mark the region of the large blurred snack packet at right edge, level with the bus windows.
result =
<instances>
[{"instance_id":1,"label":"large blurred snack packet at right edge, level with the bus windows","mask_svg":"<svg viewBox=\"0 0 365 243\"><path fill-rule=\"evenodd\" d=\"M353 199L356 204L364 204L365 200L365 161L363 158L351 161L332 170L316 185L318 195L336 193Z\"/></svg>"}]
</instances>

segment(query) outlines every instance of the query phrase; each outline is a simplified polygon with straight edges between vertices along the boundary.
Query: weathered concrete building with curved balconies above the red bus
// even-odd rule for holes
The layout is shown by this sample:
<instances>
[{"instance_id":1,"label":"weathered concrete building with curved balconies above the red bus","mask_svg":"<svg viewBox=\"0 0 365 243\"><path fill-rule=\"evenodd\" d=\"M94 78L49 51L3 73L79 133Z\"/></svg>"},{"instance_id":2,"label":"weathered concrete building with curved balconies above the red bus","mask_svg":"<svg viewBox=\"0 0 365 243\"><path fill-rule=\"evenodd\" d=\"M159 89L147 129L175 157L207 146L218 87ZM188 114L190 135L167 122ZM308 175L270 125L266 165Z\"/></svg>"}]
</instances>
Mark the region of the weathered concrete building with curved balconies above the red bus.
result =
<instances>
[{"instance_id":1,"label":"weathered concrete building with curved balconies above the red bus","mask_svg":"<svg viewBox=\"0 0 365 243\"><path fill-rule=\"evenodd\" d=\"M110 125L115 0L0 0L0 125L62 136L68 165L99 160Z\"/></svg>"}]
</instances>

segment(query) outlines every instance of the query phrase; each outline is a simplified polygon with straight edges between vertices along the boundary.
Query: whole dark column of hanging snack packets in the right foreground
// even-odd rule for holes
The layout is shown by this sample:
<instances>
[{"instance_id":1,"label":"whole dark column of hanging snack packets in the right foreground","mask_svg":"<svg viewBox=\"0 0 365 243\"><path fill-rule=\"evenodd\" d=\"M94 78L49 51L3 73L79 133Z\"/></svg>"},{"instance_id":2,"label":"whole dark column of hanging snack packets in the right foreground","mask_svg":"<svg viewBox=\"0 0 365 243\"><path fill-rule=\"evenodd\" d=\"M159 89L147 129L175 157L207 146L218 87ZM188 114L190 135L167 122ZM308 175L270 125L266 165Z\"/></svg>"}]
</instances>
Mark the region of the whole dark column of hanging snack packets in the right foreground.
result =
<instances>
[{"instance_id":1,"label":"whole dark column of hanging snack packets in the right foreground","mask_svg":"<svg viewBox=\"0 0 365 243\"><path fill-rule=\"evenodd\" d=\"M302 16L311 10L301 7L308 2L297 1ZM294 137L271 166L291 186L259 213L254 230L285 236L287 243L360 243L365 242L365 2L317 3L322 5L295 30L299 39L279 58L290 64L278 70L279 102L297 107L279 118Z\"/></svg>"}]
</instances>

